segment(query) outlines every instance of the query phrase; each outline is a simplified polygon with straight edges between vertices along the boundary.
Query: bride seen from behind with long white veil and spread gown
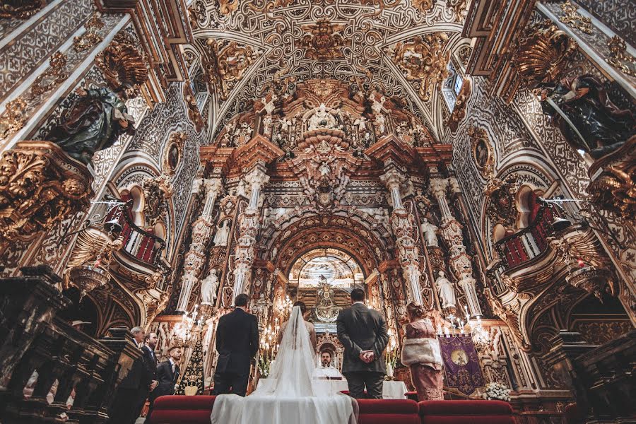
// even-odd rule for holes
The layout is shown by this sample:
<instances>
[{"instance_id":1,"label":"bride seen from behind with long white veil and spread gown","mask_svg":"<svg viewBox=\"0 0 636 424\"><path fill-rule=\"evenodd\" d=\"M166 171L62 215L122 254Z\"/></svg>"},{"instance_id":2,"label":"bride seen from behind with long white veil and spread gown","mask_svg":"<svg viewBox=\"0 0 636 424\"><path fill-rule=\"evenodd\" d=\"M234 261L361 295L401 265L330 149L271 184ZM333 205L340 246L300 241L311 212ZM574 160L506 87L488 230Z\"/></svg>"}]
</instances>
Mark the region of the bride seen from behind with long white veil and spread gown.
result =
<instances>
[{"instance_id":1,"label":"bride seen from behind with long white veil and spread gown","mask_svg":"<svg viewBox=\"0 0 636 424\"><path fill-rule=\"evenodd\" d=\"M247 397L216 396L212 424L355 424L355 399L313 379L314 354L300 307L292 310L267 379Z\"/></svg>"}]
</instances>

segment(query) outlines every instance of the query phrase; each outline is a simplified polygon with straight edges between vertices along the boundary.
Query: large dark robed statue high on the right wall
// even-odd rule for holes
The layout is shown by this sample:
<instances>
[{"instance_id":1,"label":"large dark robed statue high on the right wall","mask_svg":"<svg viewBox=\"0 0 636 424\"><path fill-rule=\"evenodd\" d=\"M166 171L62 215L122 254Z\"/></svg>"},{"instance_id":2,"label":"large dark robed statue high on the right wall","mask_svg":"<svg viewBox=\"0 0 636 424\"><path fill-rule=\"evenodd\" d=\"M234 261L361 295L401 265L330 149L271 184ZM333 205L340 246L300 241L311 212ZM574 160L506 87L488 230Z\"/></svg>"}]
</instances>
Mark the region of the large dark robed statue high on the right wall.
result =
<instances>
[{"instance_id":1,"label":"large dark robed statue high on the right wall","mask_svg":"<svg viewBox=\"0 0 636 424\"><path fill-rule=\"evenodd\" d=\"M543 113L567 142L594 159L616 151L636 133L632 112L618 109L596 76L577 76L536 92Z\"/></svg>"}]
</instances>

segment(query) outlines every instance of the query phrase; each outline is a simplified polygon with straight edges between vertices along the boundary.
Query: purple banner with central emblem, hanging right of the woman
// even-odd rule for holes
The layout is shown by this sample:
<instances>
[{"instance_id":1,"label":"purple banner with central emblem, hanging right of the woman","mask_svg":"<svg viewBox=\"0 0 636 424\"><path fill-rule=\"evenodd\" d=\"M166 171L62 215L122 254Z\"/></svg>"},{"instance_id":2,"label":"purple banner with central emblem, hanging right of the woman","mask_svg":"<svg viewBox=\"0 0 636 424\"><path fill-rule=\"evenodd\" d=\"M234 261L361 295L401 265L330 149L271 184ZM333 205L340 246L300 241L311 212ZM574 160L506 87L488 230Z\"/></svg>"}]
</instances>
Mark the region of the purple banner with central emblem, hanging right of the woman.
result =
<instances>
[{"instance_id":1,"label":"purple banner with central emblem, hanging right of the woman","mask_svg":"<svg viewBox=\"0 0 636 424\"><path fill-rule=\"evenodd\" d=\"M471 394L483 387L483 374L471 336L437 338L440 341L447 387L457 387L463 394Z\"/></svg>"}]
</instances>

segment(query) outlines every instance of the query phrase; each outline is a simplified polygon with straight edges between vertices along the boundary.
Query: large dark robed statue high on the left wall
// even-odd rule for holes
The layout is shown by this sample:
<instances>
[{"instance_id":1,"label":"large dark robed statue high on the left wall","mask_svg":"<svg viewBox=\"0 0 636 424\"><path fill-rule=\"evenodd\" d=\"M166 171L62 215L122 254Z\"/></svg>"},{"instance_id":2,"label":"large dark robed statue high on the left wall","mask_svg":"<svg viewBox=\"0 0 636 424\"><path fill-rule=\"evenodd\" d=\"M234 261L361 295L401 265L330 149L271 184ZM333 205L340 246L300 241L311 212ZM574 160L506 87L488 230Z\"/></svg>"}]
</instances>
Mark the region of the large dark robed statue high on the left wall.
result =
<instances>
[{"instance_id":1,"label":"large dark robed statue high on the left wall","mask_svg":"<svg viewBox=\"0 0 636 424\"><path fill-rule=\"evenodd\" d=\"M112 146L121 134L134 132L134 119L124 104L132 90L124 88L114 93L110 88L78 88L80 97L45 139L88 165L95 152Z\"/></svg>"}]
</instances>

